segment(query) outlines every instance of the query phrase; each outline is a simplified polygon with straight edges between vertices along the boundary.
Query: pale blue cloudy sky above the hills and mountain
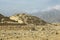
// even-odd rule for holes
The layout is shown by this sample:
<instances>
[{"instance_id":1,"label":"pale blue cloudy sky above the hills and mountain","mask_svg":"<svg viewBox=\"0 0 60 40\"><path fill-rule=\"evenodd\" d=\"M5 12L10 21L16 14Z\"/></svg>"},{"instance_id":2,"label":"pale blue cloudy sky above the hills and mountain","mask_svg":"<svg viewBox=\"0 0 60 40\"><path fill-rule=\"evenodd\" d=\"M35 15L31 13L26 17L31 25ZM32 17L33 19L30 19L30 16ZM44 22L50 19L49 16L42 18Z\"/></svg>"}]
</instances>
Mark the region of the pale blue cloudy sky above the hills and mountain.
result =
<instances>
[{"instance_id":1,"label":"pale blue cloudy sky above the hills and mountain","mask_svg":"<svg viewBox=\"0 0 60 40\"><path fill-rule=\"evenodd\" d=\"M34 13L55 6L60 8L60 0L0 0L0 13Z\"/></svg>"}]
</instances>

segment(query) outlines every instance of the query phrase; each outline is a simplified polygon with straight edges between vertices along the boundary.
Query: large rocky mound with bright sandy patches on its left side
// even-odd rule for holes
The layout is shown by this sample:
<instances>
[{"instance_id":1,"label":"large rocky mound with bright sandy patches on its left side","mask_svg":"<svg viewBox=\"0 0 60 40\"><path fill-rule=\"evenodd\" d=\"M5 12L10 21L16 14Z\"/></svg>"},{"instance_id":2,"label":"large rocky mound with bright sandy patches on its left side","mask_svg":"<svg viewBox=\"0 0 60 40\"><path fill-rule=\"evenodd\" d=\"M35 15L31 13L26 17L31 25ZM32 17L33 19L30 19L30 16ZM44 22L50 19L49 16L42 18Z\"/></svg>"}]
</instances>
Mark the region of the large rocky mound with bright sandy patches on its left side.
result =
<instances>
[{"instance_id":1,"label":"large rocky mound with bright sandy patches on its left side","mask_svg":"<svg viewBox=\"0 0 60 40\"><path fill-rule=\"evenodd\" d=\"M46 22L36 16L28 15L28 14L15 14L9 17L11 20L17 21L20 24L36 24L36 25L44 25Z\"/></svg>"}]
</instances>

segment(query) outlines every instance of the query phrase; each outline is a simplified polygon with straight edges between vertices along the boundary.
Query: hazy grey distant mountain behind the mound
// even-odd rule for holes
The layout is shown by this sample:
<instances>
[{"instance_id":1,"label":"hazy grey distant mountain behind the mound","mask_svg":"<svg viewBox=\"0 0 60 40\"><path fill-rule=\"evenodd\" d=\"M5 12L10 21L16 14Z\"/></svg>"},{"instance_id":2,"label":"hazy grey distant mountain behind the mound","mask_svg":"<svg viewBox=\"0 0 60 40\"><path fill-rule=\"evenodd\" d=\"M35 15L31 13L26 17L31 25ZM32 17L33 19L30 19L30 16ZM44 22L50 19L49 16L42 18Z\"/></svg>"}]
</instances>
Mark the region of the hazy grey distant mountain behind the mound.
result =
<instances>
[{"instance_id":1,"label":"hazy grey distant mountain behind the mound","mask_svg":"<svg viewBox=\"0 0 60 40\"><path fill-rule=\"evenodd\" d=\"M50 23L60 23L60 10L50 9L47 11L40 11L37 13L33 13L37 17L44 19L46 22Z\"/></svg>"}]
</instances>

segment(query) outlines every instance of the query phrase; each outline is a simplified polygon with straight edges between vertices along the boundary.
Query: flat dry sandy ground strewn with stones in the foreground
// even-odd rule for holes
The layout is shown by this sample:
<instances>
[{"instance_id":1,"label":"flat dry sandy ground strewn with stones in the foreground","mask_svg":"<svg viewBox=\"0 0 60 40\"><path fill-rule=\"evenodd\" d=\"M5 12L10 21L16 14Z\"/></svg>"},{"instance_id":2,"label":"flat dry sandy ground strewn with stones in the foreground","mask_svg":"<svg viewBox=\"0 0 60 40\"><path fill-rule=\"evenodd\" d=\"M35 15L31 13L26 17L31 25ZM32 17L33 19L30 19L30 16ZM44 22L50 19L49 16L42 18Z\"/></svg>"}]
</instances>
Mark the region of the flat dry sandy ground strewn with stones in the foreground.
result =
<instances>
[{"instance_id":1,"label":"flat dry sandy ground strewn with stones in the foreground","mask_svg":"<svg viewBox=\"0 0 60 40\"><path fill-rule=\"evenodd\" d=\"M60 24L0 25L0 40L60 40Z\"/></svg>"}]
</instances>

